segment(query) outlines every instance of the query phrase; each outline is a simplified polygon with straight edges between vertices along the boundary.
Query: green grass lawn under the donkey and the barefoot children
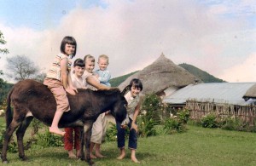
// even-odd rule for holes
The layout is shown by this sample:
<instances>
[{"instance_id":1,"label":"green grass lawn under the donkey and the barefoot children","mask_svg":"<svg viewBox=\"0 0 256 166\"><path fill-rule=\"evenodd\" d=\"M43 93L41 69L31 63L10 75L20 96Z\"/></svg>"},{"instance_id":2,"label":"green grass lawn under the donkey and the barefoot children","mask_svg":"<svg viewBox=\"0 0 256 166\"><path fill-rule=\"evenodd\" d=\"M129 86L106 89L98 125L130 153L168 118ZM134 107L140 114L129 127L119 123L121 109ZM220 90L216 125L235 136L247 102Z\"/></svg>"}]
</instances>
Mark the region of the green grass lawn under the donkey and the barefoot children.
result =
<instances>
[{"instance_id":1,"label":"green grass lawn under the donkey and the barefoot children","mask_svg":"<svg viewBox=\"0 0 256 166\"><path fill-rule=\"evenodd\" d=\"M125 159L119 155L116 142L102 145L108 157L95 159L96 165L134 165L127 150ZM84 161L68 159L63 147L41 148L32 146L26 151L27 162L20 161L17 153L8 153L9 165L84 165ZM256 165L256 134L203 129L188 126L183 134L158 135L138 139L137 158L140 165Z\"/></svg>"}]
</instances>

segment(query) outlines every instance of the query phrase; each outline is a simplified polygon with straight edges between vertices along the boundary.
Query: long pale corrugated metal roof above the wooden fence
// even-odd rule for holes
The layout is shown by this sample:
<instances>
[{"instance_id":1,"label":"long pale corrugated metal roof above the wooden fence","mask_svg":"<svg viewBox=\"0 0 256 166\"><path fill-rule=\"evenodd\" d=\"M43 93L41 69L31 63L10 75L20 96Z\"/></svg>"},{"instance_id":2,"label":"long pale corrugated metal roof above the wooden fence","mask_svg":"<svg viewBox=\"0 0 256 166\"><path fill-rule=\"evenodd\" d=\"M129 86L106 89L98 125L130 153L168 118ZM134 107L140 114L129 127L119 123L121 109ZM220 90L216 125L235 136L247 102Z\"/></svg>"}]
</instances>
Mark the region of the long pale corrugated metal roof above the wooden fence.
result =
<instances>
[{"instance_id":1,"label":"long pale corrugated metal roof above the wooden fence","mask_svg":"<svg viewBox=\"0 0 256 166\"><path fill-rule=\"evenodd\" d=\"M186 100L214 101L245 106L255 100L243 100L242 96L255 83L198 83L189 84L178 89L174 94L166 96L164 102L183 104Z\"/></svg>"}]
</instances>

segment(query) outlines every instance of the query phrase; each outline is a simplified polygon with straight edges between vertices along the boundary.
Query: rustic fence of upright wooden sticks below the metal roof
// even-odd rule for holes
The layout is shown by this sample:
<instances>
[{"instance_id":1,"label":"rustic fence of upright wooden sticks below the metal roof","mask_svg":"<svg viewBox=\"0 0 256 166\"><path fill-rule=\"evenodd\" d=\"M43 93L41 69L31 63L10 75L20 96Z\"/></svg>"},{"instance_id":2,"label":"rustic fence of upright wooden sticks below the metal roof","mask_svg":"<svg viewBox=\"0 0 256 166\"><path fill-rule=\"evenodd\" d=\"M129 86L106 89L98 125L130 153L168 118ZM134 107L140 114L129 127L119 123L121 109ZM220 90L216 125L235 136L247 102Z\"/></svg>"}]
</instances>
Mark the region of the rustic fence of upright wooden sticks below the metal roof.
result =
<instances>
[{"instance_id":1,"label":"rustic fence of upright wooden sticks below the metal roof","mask_svg":"<svg viewBox=\"0 0 256 166\"><path fill-rule=\"evenodd\" d=\"M249 125L256 123L256 106L235 106L228 103L187 100L186 107L190 110L190 118L195 120L214 113L218 120L224 117L237 117L242 123L249 123Z\"/></svg>"}]
</instances>

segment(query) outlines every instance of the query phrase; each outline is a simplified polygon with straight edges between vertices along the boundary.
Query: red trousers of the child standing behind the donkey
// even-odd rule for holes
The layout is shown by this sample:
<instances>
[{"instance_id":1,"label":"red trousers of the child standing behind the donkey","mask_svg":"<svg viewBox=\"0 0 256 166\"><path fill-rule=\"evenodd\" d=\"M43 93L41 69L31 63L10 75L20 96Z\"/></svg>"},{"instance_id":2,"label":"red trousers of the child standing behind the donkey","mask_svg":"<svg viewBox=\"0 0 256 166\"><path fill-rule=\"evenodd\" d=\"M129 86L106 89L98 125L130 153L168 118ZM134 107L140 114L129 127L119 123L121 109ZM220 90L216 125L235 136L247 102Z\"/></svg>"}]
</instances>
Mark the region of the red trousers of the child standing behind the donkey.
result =
<instances>
[{"instance_id":1,"label":"red trousers of the child standing behind the donkey","mask_svg":"<svg viewBox=\"0 0 256 166\"><path fill-rule=\"evenodd\" d=\"M67 151L71 151L74 149L80 149L80 128L65 128L65 135L64 135L64 148ZM74 132L74 135L73 135Z\"/></svg>"}]
</instances>

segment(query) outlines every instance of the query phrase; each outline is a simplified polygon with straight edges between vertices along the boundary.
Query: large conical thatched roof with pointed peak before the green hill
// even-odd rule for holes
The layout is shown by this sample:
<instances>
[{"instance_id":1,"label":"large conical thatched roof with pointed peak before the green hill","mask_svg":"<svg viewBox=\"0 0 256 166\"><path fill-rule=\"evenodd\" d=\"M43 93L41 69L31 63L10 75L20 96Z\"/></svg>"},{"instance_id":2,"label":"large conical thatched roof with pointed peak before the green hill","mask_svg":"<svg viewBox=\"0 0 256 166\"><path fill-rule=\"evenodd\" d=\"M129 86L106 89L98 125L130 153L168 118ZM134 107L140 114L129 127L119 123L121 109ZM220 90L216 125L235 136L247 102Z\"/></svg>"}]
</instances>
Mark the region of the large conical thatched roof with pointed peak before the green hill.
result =
<instances>
[{"instance_id":1,"label":"large conical thatched roof with pointed peak before the green hill","mask_svg":"<svg viewBox=\"0 0 256 166\"><path fill-rule=\"evenodd\" d=\"M195 80L201 83L198 77L190 74L181 66L174 64L164 54L161 54L157 60L142 71L128 77L125 82L119 85L119 89L125 89L125 86L130 83L132 78L142 80L143 94L160 93L172 86L181 88L195 83Z\"/></svg>"}]
</instances>

